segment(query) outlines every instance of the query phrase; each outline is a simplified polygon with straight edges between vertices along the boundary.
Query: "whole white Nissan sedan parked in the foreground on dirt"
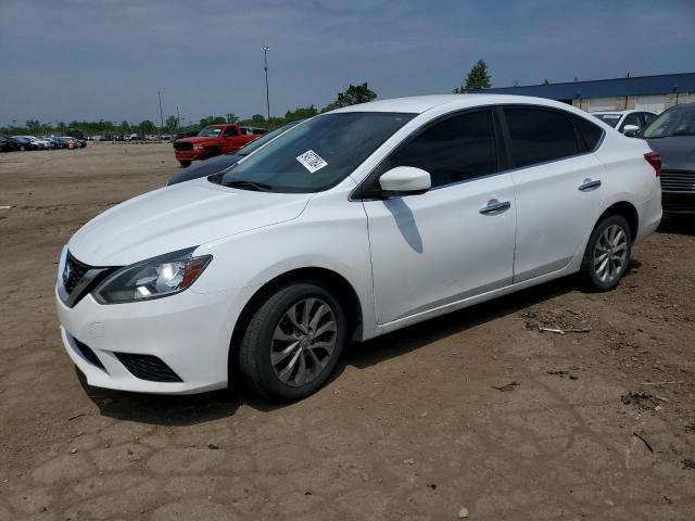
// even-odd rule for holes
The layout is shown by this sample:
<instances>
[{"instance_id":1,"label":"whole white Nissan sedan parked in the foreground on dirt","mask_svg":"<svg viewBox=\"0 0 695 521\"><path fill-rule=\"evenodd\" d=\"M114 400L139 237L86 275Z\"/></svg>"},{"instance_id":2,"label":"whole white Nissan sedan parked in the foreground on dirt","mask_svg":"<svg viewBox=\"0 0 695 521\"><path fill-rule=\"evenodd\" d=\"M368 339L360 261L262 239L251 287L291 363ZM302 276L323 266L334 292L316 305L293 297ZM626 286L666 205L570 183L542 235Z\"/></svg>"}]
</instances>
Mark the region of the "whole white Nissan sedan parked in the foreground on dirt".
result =
<instances>
[{"instance_id":1,"label":"whole white Nissan sedan parked in the foreground on dirt","mask_svg":"<svg viewBox=\"0 0 695 521\"><path fill-rule=\"evenodd\" d=\"M318 115L78 230L65 348L91 385L304 397L363 341L570 274L614 289L661 218L658 154L567 104L453 94Z\"/></svg>"}]
</instances>

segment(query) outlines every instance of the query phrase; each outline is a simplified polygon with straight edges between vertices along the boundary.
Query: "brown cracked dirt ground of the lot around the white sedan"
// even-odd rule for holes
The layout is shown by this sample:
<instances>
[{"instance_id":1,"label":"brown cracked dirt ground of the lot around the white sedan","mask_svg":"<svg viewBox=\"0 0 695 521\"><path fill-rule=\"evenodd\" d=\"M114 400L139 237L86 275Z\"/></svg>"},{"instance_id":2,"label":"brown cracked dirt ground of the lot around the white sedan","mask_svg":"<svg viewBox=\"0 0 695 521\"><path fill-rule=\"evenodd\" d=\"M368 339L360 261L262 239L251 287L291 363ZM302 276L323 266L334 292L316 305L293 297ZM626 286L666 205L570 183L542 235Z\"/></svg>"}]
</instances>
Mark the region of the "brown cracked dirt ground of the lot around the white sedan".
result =
<instances>
[{"instance_id":1,"label":"brown cracked dirt ground of the lot around the white sedan","mask_svg":"<svg viewBox=\"0 0 695 521\"><path fill-rule=\"evenodd\" d=\"M177 168L167 144L0 155L0 520L695 518L695 221L611 293L560 280L350 346L300 403L87 387L60 249Z\"/></svg>"}]
</instances>

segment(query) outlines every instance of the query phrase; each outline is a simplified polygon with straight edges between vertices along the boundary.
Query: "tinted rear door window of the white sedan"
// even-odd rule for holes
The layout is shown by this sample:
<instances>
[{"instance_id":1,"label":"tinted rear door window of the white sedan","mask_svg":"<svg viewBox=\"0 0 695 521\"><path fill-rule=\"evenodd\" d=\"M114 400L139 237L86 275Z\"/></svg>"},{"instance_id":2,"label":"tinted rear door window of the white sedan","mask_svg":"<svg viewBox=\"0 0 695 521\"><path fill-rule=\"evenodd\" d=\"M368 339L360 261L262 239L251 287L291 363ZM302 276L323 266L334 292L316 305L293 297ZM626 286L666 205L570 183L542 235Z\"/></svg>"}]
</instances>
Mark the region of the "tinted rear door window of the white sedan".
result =
<instances>
[{"instance_id":1,"label":"tinted rear door window of the white sedan","mask_svg":"<svg viewBox=\"0 0 695 521\"><path fill-rule=\"evenodd\" d=\"M574 127L565 114L521 107L505 109L504 114L516 167L560 160L580 152Z\"/></svg>"}]
</instances>

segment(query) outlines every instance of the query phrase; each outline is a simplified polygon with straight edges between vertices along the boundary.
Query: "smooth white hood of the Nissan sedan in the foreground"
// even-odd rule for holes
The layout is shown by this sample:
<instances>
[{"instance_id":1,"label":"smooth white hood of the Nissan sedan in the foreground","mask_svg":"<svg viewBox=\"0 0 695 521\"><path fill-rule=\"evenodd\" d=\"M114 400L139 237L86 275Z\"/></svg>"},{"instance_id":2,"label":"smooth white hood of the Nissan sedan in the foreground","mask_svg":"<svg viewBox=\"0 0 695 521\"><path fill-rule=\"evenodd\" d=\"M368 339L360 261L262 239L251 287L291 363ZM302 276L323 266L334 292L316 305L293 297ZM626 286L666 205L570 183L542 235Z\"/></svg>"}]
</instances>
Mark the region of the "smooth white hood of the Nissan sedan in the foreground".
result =
<instances>
[{"instance_id":1,"label":"smooth white hood of the Nissan sedan in the foreground","mask_svg":"<svg viewBox=\"0 0 695 521\"><path fill-rule=\"evenodd\" d=\"M199 179L108 209L67 247L90 266L125 266L300 216L311 194L237 190Z\"/></svg>"}]
</instances>

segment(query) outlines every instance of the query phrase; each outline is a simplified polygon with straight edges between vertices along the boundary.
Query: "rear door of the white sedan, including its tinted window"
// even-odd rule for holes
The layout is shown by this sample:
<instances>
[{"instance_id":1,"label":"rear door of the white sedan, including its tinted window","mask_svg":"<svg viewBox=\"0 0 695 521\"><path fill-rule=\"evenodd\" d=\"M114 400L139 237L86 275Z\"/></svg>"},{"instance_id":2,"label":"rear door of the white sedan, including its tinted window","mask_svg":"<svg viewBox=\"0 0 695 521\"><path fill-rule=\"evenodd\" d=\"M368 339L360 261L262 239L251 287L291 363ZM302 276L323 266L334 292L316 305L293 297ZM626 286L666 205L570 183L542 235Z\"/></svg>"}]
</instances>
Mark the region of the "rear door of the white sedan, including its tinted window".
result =
<instances>
[{"instance_id":1,"label":"rear door of the white sedan, including its tinted window","mask_svg":"<svg viewBox=\"0 0 695 521\"><path fill-rule=\"evenodd\" d=\"M520 282L557 271L581 253L603 200L605 175L583 130L591 125L596 139L602 130L561 111L508 106L504 114L516 167L514 281Z\"/></svg>"}]
</instances>

